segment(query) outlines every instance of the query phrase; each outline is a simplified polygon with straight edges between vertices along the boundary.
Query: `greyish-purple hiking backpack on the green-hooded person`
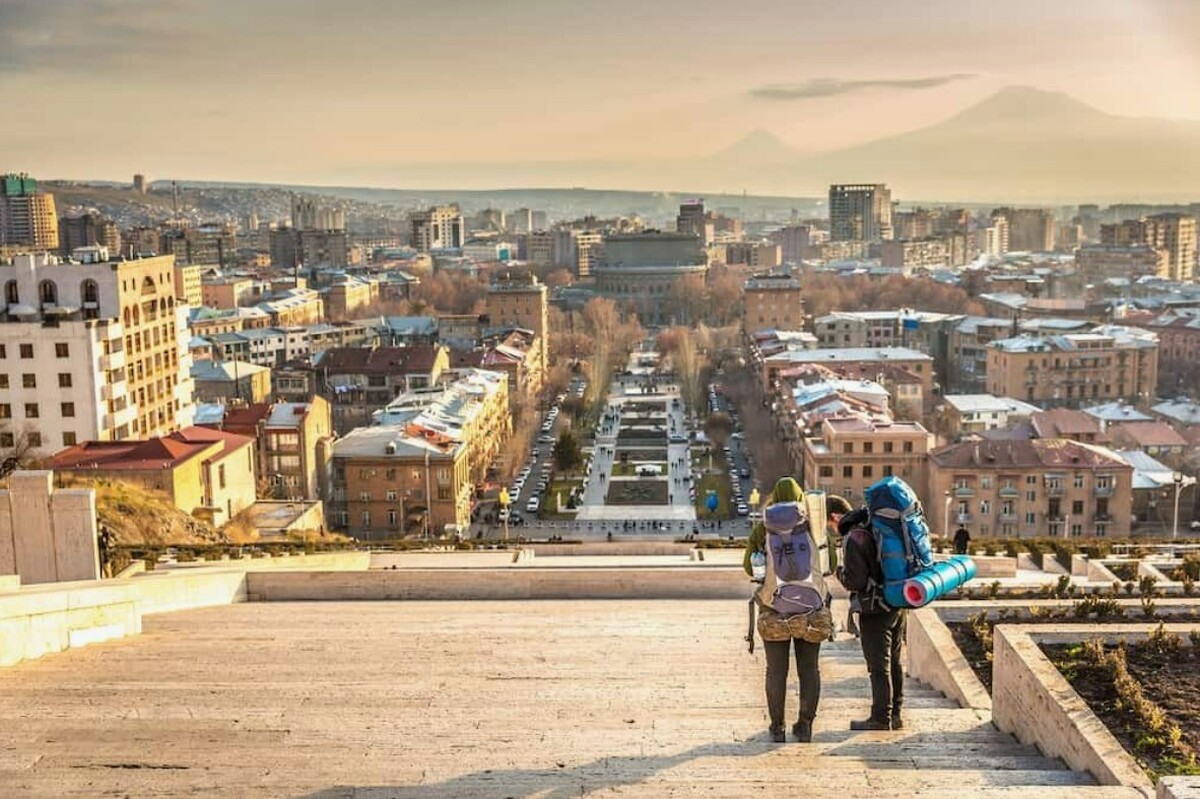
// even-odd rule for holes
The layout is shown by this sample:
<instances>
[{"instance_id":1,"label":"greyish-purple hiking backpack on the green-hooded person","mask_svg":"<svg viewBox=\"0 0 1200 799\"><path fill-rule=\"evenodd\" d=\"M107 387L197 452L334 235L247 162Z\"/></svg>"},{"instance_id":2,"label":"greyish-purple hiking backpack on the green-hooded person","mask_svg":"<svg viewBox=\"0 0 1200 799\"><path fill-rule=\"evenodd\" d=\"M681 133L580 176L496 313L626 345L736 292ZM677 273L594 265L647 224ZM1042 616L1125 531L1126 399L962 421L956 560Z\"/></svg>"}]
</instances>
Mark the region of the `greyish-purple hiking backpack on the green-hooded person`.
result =
<instances>
[{"instance_id":1,"label":"greyish-purple hiking backpack on the green-hooded person","mask_svg":"<svg viewBox=\"0 0 1200 799\"><path fill-rule=\"evenodd\" d=\"M763 510L767 577L760 601L780 615L818 611L826 605L828 554L814 541L809 517L798 501L775 503Z\"/></svg>"}]
</instances>

